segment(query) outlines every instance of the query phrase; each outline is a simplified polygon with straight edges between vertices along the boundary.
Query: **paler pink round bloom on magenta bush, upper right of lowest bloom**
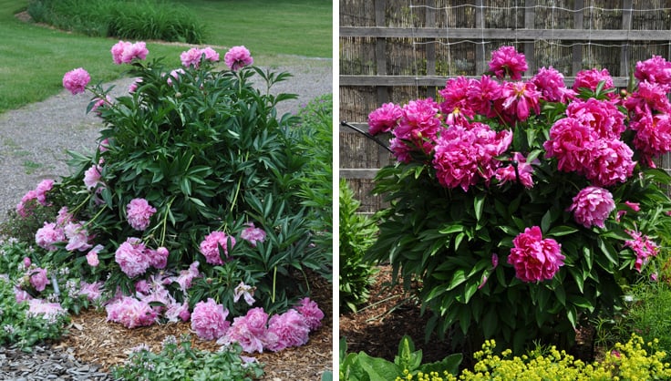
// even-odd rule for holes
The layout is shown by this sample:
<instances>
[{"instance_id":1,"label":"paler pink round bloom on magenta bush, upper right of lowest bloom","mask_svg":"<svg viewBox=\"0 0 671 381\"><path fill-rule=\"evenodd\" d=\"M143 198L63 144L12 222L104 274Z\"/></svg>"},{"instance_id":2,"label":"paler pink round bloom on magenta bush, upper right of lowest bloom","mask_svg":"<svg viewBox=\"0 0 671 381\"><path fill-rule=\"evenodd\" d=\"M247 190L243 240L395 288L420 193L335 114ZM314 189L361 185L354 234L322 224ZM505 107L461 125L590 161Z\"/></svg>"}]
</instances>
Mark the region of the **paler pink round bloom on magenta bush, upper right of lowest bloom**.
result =
<instances>
[{"instance_id":1,"label":"paler pink round bloom on magenta bush, upper right of lowest bloom","mask_svg":"<svg viewBox=\"0 0 671 381\"><path fill-rule=\"evenodd\" d=\"M598 226L604 228L604 221L611 211L615 210L615 202L610 191L598 187L586 187L573 197L569 211L573 218L585 228Z\"/></svg>"}]
</instances>

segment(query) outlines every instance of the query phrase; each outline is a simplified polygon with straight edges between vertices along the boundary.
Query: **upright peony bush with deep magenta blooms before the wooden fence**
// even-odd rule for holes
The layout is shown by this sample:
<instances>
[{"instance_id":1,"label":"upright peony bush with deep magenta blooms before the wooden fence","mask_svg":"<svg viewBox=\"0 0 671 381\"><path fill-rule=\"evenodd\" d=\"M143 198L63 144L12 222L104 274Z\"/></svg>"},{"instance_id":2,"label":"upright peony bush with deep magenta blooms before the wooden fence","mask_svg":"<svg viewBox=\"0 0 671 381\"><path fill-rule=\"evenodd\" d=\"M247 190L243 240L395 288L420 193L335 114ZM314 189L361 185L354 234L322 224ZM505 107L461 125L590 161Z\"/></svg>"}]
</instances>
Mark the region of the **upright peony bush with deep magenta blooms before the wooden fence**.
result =
<instances>
[{"instance_id":1,"label":"upright peony bush with deep magenta blooms before the wooden fence","mask_svg":"<svg viewBox=\"0 0 671 381\"><path fill-rule=\"evenodd\" d=\"M637 63L627 89L605 69L542 67L529 78L511 46L480 78L449 78L441 101L387 103L368 117L397 162L379 170L380 234L368 260L419 281L427 335L468 348L495 339L521 353L563 347L666 246L671 63Z\"/></svg>"}]
</instances>

